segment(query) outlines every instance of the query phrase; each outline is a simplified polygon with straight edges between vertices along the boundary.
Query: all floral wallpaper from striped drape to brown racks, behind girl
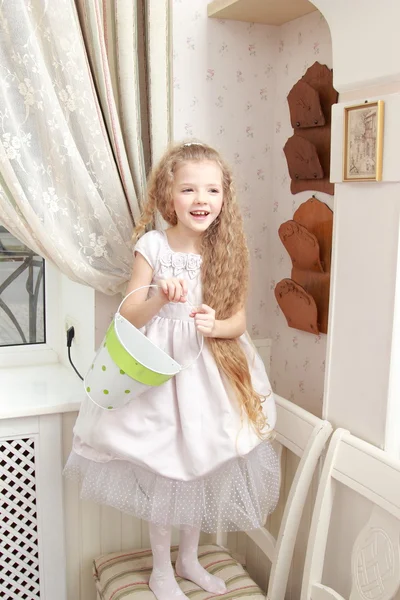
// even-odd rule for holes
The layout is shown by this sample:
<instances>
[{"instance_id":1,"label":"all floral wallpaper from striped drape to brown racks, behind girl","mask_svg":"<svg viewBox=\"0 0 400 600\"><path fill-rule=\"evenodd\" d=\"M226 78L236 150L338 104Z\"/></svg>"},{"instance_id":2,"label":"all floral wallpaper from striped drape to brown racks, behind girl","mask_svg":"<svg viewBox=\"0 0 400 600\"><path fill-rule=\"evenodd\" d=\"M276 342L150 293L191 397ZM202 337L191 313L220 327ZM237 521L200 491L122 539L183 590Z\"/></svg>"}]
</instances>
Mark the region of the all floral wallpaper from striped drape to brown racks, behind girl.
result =
<instances>
[{"instance_id":1,"label":"all floral wallpaper from striped drape to brown racks, behind girl","mask_svg":"<svg viewBox=\"0 0 400 600\"><path fill-rule=\"evenodd\" d=\"M233 167L252 259L249 332L272 339L275 391L320 414L326 336L290 329L274 287L291 270L278 228L311 195L290 192L286 96L316 60L332 66L329 28L319 12L282 27L208 19L207 3L173 1L173 137L204 140Z\"/></svg>"}]
</instances>

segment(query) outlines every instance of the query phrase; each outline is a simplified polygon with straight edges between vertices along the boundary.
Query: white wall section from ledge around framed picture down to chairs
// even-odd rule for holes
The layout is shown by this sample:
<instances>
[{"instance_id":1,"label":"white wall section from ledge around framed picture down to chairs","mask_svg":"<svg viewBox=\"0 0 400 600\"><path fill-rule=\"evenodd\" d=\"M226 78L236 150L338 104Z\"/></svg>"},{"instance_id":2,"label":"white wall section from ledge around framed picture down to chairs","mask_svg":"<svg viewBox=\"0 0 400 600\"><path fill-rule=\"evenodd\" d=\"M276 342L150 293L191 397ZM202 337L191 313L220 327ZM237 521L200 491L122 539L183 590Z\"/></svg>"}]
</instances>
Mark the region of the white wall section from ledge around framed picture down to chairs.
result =
<instances>
[{"instance_id":1,"label":"white wall section from ledge around framed picture down to chairs","mask_svg":"<svg viewBox=\"0 0 400 600\"><path fill-rule=\"evenodd\" d=\"M391 355L396 351L392 343L395 291L399 285L400 188L396 181L400 179L400 94L360 95L350 104L365 99L385 103L381 183L341 183L343 111L349 103L335 106L332 116L331 177L336 182L334 310L324 410L334 425L347 427L355 435L384 447L392 443L385 439L387 422L393 425L388 401ZM392 393L396 394L394 389ZM394 409L396 405L393 402ZM388 431L392 440L398 426L399 421L397 428Z\"/></svg>"}]
</instances>

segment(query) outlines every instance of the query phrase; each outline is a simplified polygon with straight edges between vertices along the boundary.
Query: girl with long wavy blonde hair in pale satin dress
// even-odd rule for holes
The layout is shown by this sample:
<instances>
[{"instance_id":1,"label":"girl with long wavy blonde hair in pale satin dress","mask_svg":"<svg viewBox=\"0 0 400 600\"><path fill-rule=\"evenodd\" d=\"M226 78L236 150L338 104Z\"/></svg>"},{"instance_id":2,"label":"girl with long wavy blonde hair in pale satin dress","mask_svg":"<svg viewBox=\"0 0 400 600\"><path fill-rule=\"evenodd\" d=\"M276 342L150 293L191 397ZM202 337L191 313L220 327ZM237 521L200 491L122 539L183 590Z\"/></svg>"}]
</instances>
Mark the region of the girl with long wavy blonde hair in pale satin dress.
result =
<instances>
[{"instance_id":1,"label":"girl with long wavy blonde hair in pale satin dress","mask_svg":"<svg viewBox=\"0 0 400 600\"><path fill-rule=\"evenodd\" d=\"M159 211L166 231L155 224ZM167 151L154 169L136 227L135 262L123 315L188 369L124 408L86 400L68 473L82 496L149 521L158 600L184 596L176 573L212 594L226 591L197 560L200 530L261 527L278 499L277 458L268 441L275 404L261 358L245 335L248 251L232 175L197 142ZM188 308L188 302L196 308Z\"/></svg>"}]
</instances>

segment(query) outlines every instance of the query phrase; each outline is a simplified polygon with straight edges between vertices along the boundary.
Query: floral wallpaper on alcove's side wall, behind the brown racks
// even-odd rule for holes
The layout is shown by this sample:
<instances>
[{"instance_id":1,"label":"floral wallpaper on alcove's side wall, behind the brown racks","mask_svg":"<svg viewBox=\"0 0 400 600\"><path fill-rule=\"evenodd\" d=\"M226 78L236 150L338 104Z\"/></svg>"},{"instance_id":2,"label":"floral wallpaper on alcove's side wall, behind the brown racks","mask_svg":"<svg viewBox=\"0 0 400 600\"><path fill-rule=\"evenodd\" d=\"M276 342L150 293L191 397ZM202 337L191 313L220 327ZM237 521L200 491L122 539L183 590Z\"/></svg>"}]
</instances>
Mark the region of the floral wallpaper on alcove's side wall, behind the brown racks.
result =
<instances>
[{"instance_id":1,"label":"floral wallpaper on alcove's side wall, behind the brown racks","mask_svg":"<svg viewBox=\"0 0 400 600\"><path fill-rule=\"evenodd\" d=\"M274 389L289 400L320 415L324 391L326 335L315 336L291 329L275 301L275 284L290 277L291 261L279 237L278 228L314 192L292 195L283 146L292 135L286 96L305 71L319 61L332 68L329 27L319 12L283 25L279 31L275 63L277 87L274 113L274 177L272 202L268 203L267 319L272 337L271 380ZM315 192L333 209L333 196Z\"/></svg>"}]
</instances>

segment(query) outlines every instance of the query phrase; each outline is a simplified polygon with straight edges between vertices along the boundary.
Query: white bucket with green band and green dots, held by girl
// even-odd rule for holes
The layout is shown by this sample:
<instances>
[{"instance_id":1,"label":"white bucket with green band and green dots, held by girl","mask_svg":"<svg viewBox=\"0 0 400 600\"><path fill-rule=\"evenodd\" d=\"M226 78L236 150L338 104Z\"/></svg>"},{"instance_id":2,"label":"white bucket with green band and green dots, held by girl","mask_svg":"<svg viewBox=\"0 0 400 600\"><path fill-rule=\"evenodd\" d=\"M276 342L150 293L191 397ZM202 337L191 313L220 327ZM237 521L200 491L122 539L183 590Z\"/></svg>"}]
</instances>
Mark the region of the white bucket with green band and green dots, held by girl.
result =
<instances>
[{"instance_id":1,"label":"white bucket with green band and green dots, held by girl","mask_svg":"<svg viewBox=\"0 0 400 600\"><path fill-rule=\"evenodd\" d=\"M150 287L158 286L142 286L122 300L86 373L86 394L100 408L112 410L125 406L150 387L159 386L190 367L203 350L204 339L201 338L195 359L181 366L120 314L129 296Z\"/></svg>"}]
</instances>

